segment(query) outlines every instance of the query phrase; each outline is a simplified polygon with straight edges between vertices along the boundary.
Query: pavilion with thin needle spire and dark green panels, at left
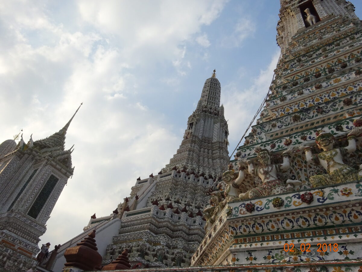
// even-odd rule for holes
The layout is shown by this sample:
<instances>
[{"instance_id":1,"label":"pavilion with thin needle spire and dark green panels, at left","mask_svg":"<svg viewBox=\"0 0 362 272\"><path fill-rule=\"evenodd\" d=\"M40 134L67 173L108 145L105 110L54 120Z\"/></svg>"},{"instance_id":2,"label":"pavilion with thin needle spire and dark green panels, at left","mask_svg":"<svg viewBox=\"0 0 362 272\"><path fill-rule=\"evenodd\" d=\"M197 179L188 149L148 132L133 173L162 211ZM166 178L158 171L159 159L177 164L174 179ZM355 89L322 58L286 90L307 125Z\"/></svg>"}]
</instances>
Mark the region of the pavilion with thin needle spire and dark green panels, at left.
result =
<instances>
[{"instance_id":1,"label":"pavilion with thin needle spire and dark green panels, at left","mask_svg":"<svg viewBox=\"0 0 362 272\"><path fill-rule=\"evenodd\" d=\"M33 142L30 136L25 144L21 136L16 147L13 140L1 144L0 267L20 271L34 263L39 237L73 175L72 150L65 150L64 143L74 115L46 139Z\"/></svg>"}]
</instances>

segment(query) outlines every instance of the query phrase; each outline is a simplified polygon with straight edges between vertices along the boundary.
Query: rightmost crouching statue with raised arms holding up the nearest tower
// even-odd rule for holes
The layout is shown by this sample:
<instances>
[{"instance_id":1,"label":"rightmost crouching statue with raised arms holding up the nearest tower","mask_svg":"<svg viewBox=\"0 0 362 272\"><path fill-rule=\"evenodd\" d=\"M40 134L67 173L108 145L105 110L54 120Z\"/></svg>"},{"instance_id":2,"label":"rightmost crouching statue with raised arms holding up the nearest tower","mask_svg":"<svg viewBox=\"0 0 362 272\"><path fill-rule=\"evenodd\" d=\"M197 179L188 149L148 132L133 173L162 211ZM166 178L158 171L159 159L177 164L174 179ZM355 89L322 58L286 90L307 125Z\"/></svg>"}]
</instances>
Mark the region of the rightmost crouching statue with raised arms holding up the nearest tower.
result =
<instances>
[{"instance_id":1,"label":"rightmost crouching statue with raised arms holding up the nearest tower","mask_svg":"<svg viewBox=\"0 0 362 272\"><path fill-rule=\"evenodd\" d=\"M343 157L348 153L356 150L356 136L359 134L358 128L353 128L347 135L348 146L341 148L333 148L334 137L332 133L325 131L317 131L316 144L323 151L319 154L312 154L311 147L300 146L304 148L308 162L320 163L327 174L311 176L309 182L312 187L339 184L349 181L358 180L358 171L343 162Z\"/></svg>"}]
</instances>

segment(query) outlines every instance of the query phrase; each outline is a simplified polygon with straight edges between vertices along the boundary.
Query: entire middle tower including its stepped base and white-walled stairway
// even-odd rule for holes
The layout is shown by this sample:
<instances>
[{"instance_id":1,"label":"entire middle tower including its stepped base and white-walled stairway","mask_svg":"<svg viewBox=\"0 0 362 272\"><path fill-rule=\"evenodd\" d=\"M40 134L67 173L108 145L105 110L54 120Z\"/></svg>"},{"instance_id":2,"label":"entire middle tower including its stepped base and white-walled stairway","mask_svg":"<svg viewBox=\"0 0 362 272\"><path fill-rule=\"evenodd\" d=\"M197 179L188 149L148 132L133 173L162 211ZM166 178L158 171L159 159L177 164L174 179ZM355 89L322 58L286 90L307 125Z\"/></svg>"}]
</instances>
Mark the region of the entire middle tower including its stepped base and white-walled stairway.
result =
<instances>
[{"instance_id":1,"label":"entire middle tower including its stepped base and white-walled stairway","mask_svg":"<svg viewBox=\"0 0 362 272\"><path fill-rule=\"evenodd\" d=\"M212 184L229 163L229 132L220 91L214 71L205 81L184 139L170 163L157 175L137 178L130 196L111 215L93 215L85 232L60 248L53 271L63 267L66 248L93 229L102 237L97 239L97 247L106 267L118 267L125 250L132 267L190 264L205 235L203 210L209 204Z\"/></svg>"}]
</instances>

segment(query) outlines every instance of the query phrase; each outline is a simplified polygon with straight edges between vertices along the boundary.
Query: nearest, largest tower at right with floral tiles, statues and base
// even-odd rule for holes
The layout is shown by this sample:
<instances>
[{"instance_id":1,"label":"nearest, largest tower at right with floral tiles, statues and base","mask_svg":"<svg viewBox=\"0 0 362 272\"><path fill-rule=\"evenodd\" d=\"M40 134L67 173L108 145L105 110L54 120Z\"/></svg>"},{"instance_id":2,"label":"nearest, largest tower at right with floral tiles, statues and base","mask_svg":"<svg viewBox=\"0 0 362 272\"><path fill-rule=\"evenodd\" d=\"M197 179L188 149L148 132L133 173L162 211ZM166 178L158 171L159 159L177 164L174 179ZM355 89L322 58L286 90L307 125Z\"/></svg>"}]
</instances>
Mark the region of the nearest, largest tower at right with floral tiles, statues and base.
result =
<instances>
[{"instance_id":1,"label":"nearest, largest tower at right with floral tiles, statues and base","mask_svg":"<svg viewBox=\"0 0 362 272\"><path fill-rule=\"evenodd\" d=\"M268 98L212 193L227 203L205 209L192 265L317 271L361 257L361 21L344 0L281 0L279 17Z\"/></svg>"}]
</instances>

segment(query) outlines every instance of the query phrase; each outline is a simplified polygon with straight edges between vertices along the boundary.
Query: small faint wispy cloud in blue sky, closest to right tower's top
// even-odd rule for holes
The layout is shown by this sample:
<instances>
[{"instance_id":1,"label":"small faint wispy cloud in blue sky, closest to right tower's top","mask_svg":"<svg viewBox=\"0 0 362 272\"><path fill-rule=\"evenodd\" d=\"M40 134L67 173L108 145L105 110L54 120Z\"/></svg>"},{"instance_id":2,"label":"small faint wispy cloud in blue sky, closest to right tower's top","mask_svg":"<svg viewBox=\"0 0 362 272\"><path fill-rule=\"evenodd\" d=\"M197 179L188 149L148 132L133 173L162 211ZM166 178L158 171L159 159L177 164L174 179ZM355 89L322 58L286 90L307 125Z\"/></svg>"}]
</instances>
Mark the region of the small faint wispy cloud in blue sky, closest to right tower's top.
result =
<instances>
[{"instance_id":1,"label":"small faint wispy cloud in blue sky, closest to right tower's top","mask_svg":"<svg viewBox=\"0 0 362 272\"><path fill-rule=\"evenodd\" d=\"M252 36L256 30L256 25L252 19L240 18L234 25L231 34L226 34L221 40L221 46L225 48L240 47L243 41Z\"/></svg>"}]
</instances>

